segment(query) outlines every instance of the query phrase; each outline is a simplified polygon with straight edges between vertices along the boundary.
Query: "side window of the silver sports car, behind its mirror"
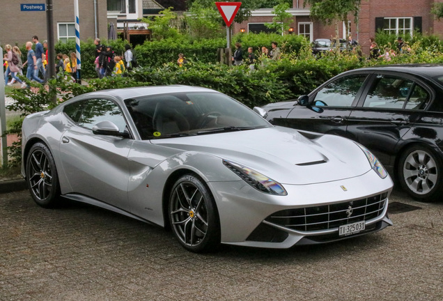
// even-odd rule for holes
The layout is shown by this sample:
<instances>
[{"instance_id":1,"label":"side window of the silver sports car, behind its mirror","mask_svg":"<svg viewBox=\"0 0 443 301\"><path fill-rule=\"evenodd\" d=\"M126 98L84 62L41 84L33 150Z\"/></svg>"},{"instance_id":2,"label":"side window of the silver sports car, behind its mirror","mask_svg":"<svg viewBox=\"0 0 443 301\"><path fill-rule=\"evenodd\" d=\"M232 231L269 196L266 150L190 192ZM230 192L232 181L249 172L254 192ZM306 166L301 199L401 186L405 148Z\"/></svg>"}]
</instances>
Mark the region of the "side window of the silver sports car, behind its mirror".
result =
<instances>
[{"instance_id":1,"label":"side window of the silver sports car, behind its mirror","mask_svg":"<svg viewBox=\"0 0 443 301\"><path fill-rule=\"evenodd\" d=\"M79 118L78 124L92 129L100 121L111 121L118 126L120 132L126 127L125 118L121 109L111 100L93 99L87 100Z\"/></svg>"}]
</instances>

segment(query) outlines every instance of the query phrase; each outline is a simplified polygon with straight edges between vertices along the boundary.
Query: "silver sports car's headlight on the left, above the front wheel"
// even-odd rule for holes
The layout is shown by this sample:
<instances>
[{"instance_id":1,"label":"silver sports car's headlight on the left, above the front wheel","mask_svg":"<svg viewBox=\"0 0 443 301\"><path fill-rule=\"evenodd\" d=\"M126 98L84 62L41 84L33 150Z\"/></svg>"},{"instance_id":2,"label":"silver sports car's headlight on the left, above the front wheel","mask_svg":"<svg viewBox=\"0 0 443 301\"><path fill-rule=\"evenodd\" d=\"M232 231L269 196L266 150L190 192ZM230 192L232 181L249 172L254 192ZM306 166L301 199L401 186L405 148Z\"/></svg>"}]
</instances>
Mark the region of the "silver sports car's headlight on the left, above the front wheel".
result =
<instances>
[{"instance_id":1,"label":"silver sports car's headlight on the left, above the front wheel","mask_svg":"<svg viewBox=\"0 0 443 301\"><path fill-rule=\"evenodd\" d=\"M254 169L250 169L249 167L244 167L240 164L223 160L224 166L231 169L234 173L236 173L240 178L242 178L246 183L254 187L256 190L267 194L275 194L275 195L287 195L288 192L284 189L284 187L272 180L272 178L268 178L267 176L259 173L258 171L254 171Z\"/></svg>"}]
</instances>

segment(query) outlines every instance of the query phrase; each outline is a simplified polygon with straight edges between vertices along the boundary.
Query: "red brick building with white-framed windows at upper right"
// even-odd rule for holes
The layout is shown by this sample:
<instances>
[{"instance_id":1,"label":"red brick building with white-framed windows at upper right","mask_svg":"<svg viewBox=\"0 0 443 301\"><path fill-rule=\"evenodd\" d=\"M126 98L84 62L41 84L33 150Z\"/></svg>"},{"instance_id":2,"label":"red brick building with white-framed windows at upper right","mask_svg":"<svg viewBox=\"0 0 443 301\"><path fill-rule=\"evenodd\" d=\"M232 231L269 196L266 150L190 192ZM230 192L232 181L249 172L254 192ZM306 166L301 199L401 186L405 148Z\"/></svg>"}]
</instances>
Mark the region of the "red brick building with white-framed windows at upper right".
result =
<instances>
[{"instance_id":1,"label":"red brick building with white-framed windows at upper right","mask_svg":"<svg viewBox=\"0 0 443 301\"><path fill-rule=\"evenodd\" d=\"M435 2L443 0L362 0L358 26L353 15L348 16L350 33L345 31L341 21L326 25L313 20L309 15L309 8L303 7L303 0L293 0L293 8L288 12L294 16L293 23L290 24L293 34L302 34L310 41L317 38L334 38L338 27L339 38L346 38L351 34L352 38L362 45L363 51L368 52L369 38L375 36L377 29L389 30L397 35L402 31L412 33L414 29L419 29L423 33L432 33L443 38L443 22L435 20L430 13ZM233 24L233 33L242 29L245 32L264 29L264 23L272 22L272 17L272 9L256 10L247 22Z\"/></svg>"}]
</instances>

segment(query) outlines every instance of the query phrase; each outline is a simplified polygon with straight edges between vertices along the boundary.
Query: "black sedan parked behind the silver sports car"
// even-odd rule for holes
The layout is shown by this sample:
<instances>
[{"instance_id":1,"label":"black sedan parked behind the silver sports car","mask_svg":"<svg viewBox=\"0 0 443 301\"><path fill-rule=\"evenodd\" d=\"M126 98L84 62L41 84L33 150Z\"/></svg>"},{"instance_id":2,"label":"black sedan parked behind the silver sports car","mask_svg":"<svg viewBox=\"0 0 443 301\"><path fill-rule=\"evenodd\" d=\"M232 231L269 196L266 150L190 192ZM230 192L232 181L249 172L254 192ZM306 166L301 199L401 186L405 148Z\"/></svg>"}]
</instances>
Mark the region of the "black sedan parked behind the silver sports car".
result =
<instances>
[{"instance_id":1,"label":"black sedan parked behind the silver sports car","mask_svg":"<svg viewBox=\"0 0 443 301\"><path fill-rule=\"evenodd\" d=\"M415 199L443 191L443 65L343 72L298 100L255 109L274 125L363 144Z\"/></svg>"}]
</instances>

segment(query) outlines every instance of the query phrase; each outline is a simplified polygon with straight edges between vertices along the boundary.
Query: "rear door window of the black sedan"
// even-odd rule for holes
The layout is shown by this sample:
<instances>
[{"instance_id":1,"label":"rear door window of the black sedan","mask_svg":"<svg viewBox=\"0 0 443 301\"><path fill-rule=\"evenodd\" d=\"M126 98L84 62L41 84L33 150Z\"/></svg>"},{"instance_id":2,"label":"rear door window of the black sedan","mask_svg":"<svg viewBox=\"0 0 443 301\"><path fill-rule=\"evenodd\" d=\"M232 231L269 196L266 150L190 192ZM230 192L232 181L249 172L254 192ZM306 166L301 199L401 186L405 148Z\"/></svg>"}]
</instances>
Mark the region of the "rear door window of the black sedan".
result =
<instances>
[{"instance_id":1,"label":"rear door window of the black sedan","mask_svg":"<svg viewBox=\"0 0 443 301\"><path fill-rule=\"evenodd\" d=\"M403 109L413 84L410 79L378 75L363 107Z\"/></svg>"}]
</instances>

